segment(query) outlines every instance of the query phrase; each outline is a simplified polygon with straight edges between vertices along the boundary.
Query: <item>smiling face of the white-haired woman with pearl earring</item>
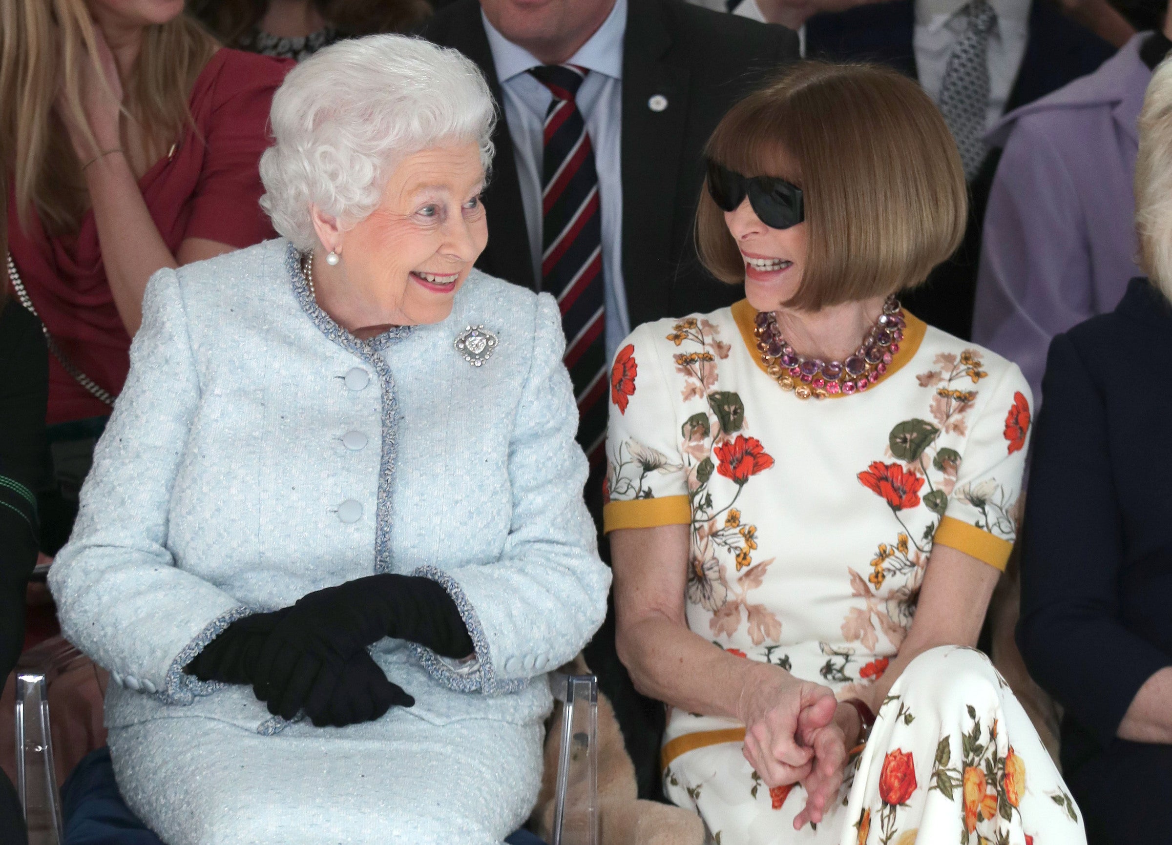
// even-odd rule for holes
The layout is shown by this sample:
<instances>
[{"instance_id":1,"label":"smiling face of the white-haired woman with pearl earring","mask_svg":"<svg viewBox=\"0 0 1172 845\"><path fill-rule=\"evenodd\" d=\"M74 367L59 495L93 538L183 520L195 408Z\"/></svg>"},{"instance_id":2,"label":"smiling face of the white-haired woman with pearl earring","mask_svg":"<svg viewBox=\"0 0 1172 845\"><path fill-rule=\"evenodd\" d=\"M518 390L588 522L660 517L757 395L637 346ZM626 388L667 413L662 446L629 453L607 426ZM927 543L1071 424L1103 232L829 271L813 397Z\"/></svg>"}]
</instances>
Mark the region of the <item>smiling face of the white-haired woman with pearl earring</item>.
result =
<instances>
[{"instance_id":1,"label":"smiling face of the white-haired woman with pearl earring","mask_svg":"<svg viewBox=\"0 0 1172 845\"><path fill-rule=\"evenodd\" d=\"M339 282L331 284L333 307L323 307L348 328L447 319L489 240L483 188L475 142L437 146L395 166L382 203L364 220L339 230L315 214L322 245L341 257L336 267L314 264L315 273Z\"/></svg>"}]
</instances>

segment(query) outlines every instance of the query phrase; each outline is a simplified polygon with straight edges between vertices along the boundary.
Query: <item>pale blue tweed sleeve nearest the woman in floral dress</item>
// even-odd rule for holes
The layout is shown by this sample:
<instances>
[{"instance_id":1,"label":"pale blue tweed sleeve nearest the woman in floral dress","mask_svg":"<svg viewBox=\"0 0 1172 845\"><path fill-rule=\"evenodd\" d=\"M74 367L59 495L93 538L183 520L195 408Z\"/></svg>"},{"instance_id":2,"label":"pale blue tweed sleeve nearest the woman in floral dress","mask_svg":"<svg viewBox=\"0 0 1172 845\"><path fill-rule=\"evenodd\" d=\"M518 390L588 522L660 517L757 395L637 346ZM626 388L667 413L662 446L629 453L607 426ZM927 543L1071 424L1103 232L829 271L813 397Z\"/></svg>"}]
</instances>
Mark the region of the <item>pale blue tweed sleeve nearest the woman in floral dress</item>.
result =
<instances>
[{"instance_id":1,"label":"pale blue tweed sleeve nearest the woman in floral dress","mask_svg":"<svg viewBox=\"0 0 1172 845\"><path fill-rule=\"evenodd\" d=\"M475 647L463 662L420 648L424 665L457 689L490 695L516 691L572 660L602 623L611 585L582 502L587 464L574 442L578 413L561 363L560 314L547 295L536 312L509 449L512 526L504 550L486 564L413 573L448 590Z\"/></svg>"}]
</instances>

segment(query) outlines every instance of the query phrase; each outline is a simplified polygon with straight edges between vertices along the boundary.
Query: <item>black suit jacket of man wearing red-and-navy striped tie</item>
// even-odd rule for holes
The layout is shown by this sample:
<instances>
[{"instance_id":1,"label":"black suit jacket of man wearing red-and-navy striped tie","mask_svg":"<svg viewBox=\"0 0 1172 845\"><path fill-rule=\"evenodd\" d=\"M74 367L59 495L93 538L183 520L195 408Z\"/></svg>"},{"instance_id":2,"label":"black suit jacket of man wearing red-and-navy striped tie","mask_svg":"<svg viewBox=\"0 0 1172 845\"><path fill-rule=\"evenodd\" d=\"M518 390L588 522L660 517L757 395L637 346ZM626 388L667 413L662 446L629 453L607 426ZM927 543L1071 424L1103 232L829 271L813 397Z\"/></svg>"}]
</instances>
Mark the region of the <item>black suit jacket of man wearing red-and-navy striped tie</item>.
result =
<instances>
[{"instance_id":1,"label":"black suit jacket of man wearing red-and-navy striped tie","mask_svg":"<svg viewBox=\"0 0 1172 845\"><path fill-rule=\"evenodd\" d=\"M500 83L477 0L457 0L424 38L475 61L500 102ZM622 57L622 277L631 325L714 311L741 299L695 258L691 239L703 183L702 150L729 107L770 70L798 56L789 29L762 26L681 0L629 0ZM667 97L663 111L648 100ZM534 287L512 138L502 120L484 193L489 245L477 261L492 275Z\"/></svg>"}]
</instances>

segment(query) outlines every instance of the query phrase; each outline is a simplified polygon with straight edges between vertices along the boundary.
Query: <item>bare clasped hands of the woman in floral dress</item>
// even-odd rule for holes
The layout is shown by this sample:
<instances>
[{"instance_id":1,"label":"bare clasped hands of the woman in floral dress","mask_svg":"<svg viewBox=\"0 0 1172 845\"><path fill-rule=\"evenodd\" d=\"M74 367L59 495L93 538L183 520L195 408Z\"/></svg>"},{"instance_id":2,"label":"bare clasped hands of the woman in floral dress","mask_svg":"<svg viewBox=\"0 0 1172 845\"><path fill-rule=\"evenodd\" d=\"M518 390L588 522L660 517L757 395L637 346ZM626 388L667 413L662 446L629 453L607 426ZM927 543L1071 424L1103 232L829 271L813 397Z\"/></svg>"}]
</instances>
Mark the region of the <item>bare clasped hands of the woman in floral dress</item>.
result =
<instances>
[{"instance_id":1,"label":"bare clasped hands of the woman in floral dress","mask_svg":"<svg viewBox=\"0 0 1172 845\"><path fill-rule=\"evenodd\" d=\"M793 819L800 830L822 822L843 784L850 749L861 724L829 687L802 681L769 665L754 667L738 706L744 757L770 789L802 784L806 805Z\"/></svg>"}]
</instances>

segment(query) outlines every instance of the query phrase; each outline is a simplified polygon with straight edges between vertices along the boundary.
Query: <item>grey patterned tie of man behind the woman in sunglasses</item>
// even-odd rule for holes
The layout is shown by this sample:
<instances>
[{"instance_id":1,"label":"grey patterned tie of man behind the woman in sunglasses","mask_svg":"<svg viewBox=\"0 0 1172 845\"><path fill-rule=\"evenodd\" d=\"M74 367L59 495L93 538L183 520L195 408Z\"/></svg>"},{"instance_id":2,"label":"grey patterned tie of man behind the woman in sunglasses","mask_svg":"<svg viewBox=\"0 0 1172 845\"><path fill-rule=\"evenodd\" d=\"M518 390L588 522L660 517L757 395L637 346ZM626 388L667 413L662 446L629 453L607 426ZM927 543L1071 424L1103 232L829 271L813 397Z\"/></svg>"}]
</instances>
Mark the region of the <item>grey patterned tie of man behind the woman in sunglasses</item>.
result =
<instances>
[{"instance_id":1,"label":"grey patterned tie of man behind the woman in sunglasses","mask_svg":"<svg viewBox=\"0 0 1172 845\"><path fill-rule=\"evenodd\" d=\"M965 178L972 179L987 152L984 122L989 114L989 32L997 15L988 0L965 7L968 28L956 42L940 86L940 113L956 138Z\"/></svg>"}]
</instances>

